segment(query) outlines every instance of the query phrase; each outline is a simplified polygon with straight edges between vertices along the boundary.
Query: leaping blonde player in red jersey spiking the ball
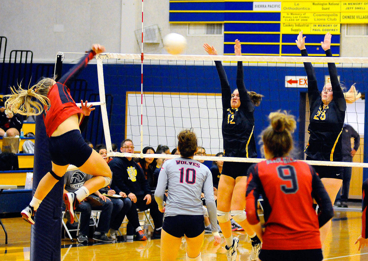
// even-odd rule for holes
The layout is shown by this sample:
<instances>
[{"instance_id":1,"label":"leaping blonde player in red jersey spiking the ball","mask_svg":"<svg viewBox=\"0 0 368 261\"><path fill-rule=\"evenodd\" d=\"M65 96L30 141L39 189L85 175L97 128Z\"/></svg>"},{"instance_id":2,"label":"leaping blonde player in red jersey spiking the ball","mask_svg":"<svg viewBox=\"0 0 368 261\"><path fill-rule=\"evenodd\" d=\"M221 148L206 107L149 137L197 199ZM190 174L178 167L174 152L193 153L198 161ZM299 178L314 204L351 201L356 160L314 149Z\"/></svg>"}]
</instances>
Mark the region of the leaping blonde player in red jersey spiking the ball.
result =
<instances>
[{"instance_id":1,"label":"leaping blonde player in red jersey spiking the ball","mask_svg":"<svg viewBox=\"0 0 368 261\"><path fill-rule=\"evenodd\" d=\"M84 141L81 129L86 126L91 106L82 102L79 109L72 99L68 85L87 66L96 54L105 51L102 45L94 44L91 50L71 68L59 82L52 78L44 78L28 90L12 88L12 94L7 95L5 107L13 113L22 115L39 115L43 113L46 134L50 138L49 151L52 160L52 169L40 180L32 201L21 214L25 221L34 224L34 215L42 200L53 186L63 178L69 164L77 166L82 172L95 177L86 181L83 187L75 193L65 193L63 198L67 210L71 214L71 223L74 222L74 209L78 202L89 194L107 186L112 174L105 160L89 147ZM37 101L32 100L36 98Z\"/></svg>"}]
</instances>

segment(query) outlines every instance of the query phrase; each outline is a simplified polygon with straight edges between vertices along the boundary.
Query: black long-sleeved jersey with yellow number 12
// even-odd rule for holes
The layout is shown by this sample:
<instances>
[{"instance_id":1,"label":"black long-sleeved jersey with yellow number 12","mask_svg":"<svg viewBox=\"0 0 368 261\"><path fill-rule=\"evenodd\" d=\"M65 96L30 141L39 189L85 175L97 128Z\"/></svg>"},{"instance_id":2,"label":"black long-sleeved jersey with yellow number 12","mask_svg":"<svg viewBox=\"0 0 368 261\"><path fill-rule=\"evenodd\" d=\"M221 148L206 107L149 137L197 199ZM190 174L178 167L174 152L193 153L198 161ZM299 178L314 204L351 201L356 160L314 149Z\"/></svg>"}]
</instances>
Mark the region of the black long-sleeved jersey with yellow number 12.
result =
<instances>
[{"instance_id":1,"label":"black long-sleeved jersey with yellow number 12","mask_svg":"<svg viewBox=\"0 0 368 261\"><path fill-rule=\"evenodd\" d=\"M244 85L243 63L238 61L236 84L239 91L240 106L233 109L231 89L221 61L215 61L221 82L222 94L222 137L224 156L256 158L254 139L254 106Z\"/></svg>"}]
</instances>

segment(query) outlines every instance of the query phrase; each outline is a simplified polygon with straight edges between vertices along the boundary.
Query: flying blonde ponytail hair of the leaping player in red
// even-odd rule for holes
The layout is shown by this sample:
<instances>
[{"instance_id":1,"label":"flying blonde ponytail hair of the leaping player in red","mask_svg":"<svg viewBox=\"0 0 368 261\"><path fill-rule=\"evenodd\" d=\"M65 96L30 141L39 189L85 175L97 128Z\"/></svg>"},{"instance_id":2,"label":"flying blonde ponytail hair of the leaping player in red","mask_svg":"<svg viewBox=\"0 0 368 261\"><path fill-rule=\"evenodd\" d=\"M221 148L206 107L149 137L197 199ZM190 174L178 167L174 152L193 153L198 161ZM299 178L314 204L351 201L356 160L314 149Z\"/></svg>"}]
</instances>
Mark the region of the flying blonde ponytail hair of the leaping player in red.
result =
<instances>
[{"instance_id":1,"label":"flying blonde ponytail hair of the leaping player in red","mask_svg":"<svg viewBox=\"0 0 368 261\"><path fill-rule=\"evenodd\" d=\"M5 108L11 112L21 115L31 116L42 113L44 106L49 106L50 100L47 98L49 86L54 84L52 78L44 78L28 89L22 89L21 84L18 89L10 87L11 94L4 95L7 98ZM36 100L32 100L35 98Z\"/></svg>"}]
</instances>

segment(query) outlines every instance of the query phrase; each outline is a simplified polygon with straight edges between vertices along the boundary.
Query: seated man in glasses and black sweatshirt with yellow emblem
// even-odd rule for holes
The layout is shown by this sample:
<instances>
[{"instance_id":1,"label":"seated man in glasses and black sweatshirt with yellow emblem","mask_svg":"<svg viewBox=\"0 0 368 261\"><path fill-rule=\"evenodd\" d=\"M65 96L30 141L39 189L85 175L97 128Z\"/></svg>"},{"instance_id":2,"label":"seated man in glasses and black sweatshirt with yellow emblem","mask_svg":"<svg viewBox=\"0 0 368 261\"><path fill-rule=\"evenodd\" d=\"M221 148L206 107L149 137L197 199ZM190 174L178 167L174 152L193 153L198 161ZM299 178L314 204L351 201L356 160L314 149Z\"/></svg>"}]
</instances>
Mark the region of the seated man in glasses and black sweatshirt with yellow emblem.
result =
<instances>
[{"instance_id":1,"label":"seated man in glasses and black sweatshirt with yellow emblem","mask_svg":"<svg viewBox=\"0 0 368 261\"><path fill-rule=\"evenodd\" d=\"M121 142L120 151L133 153L133 142L130 139L125 139ZM122 197L128 197L132 201L132 207L127 214L127 218L135 229L136 239L146 240L146 236L139 224L137 208L141 211L150 209L150 214L155 225L152 239L159 239L161 237L163 213L159 211L155 198L151 195L151 190L149 189L142 168L132 158L128 157L115 157L109 163L109 166L113 173L112 189L117 194Z\"/></svg>"}]
</instances>

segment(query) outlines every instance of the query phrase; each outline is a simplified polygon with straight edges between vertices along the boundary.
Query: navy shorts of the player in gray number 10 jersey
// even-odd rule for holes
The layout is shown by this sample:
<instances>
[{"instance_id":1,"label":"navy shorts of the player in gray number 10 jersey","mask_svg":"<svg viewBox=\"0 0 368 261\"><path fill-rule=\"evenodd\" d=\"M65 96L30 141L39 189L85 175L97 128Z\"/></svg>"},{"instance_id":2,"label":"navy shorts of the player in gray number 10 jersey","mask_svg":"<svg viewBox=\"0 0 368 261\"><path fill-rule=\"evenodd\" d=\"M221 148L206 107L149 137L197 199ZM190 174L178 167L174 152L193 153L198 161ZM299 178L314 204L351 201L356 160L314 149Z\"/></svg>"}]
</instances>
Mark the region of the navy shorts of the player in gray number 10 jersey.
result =
<instances>
[{"instance_id":1,"label":"navy shorts of the player in gray number 10 jersey","mask_svg":"<svg viewBox=\"0 0 368 261\"><path fill-rule=\"evenodd\" d=\"M203 215L165 216L162 229L174 237L197 237L205 230Z\"/></svg>"}]
</instances>

